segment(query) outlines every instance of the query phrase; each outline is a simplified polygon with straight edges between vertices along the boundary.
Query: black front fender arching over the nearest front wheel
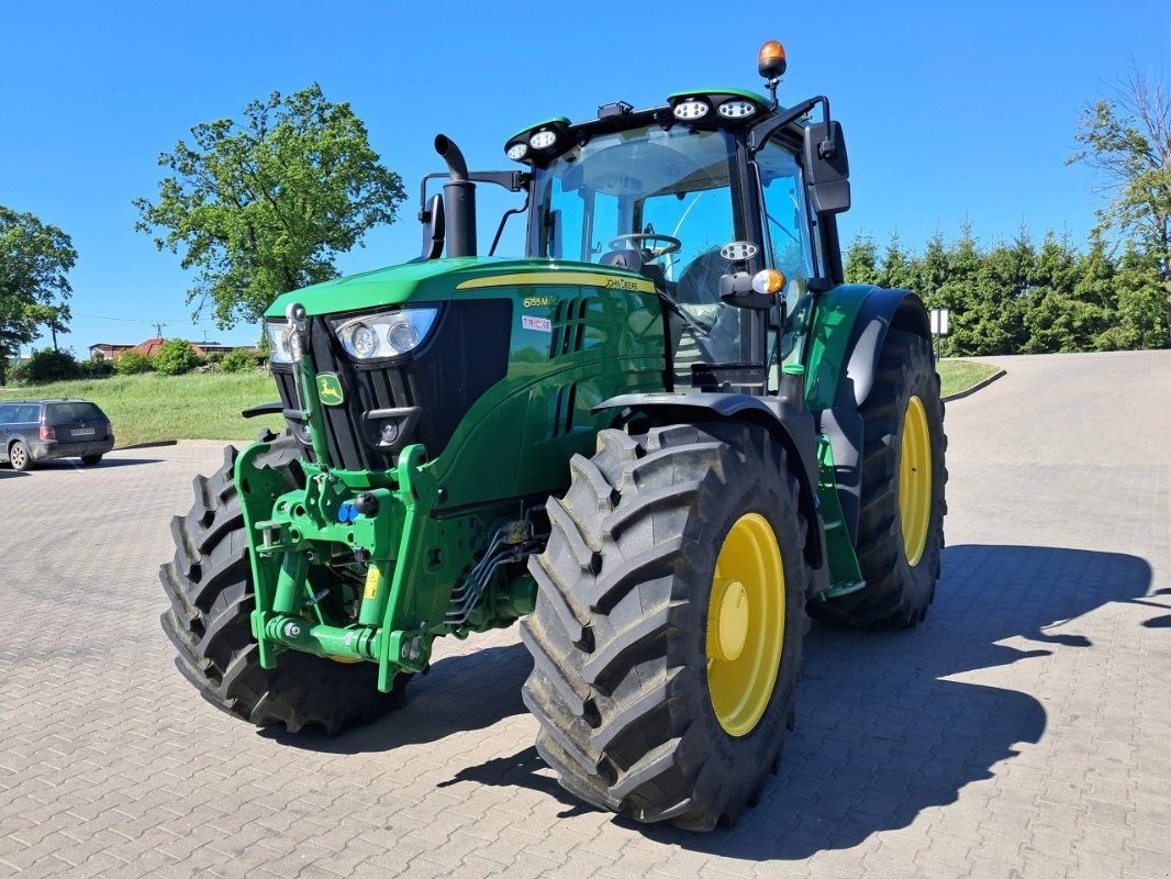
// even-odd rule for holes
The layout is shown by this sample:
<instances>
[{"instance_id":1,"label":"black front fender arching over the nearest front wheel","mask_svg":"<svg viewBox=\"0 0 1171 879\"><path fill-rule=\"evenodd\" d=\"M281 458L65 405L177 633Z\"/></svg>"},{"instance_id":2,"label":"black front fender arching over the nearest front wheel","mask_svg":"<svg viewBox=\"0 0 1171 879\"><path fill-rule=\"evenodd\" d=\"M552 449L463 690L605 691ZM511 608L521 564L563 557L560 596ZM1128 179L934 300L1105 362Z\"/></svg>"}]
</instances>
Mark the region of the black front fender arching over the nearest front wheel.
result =
<instances>
[{"instance_id":1,"label":"black front fender arching over the nearest front wheel","mask_svg":"<svg viewBox=\"0 0 1171 879\"><path fill-rule=\"evenodd\" d=\"M810 595L828 585L826 550L817 518L817 432L813 415L803 406L783 397L754 397L747 394L623 394L594 407L594 413L614 411L611 427L623 427L645 416L656 424L694 424L700 422L746 422L768 431L788 454L797 477L797 506L809 523L806 558L813 568Z\"/></svg>"}]
</instances>

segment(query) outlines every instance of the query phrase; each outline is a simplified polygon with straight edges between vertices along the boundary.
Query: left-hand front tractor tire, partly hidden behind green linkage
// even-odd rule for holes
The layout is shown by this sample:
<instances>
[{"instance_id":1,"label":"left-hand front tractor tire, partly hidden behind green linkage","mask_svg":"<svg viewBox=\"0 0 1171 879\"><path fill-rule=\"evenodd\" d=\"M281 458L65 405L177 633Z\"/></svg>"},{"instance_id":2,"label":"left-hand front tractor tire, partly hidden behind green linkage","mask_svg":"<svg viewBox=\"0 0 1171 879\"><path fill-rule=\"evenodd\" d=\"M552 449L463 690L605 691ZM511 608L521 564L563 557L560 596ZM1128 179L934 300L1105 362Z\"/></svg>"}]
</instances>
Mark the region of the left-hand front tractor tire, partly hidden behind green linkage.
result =
<instances>
[{"instance_id":1,"label":"left-hand front tractor tire, partly hidden behind green linkage","mask_svg":"<svg viewBox=\"0 0 1171 879\"><path fill-rule=\"evenodd\" d=\"M179 655L174 665L217 708L258 727L285 724L289 732L323 727L336 732L351 722L367 722L392 707L406 675L395 679L395 691L378 691L378 667L341 663L296 650L280 654L276 668L260 667L252 636L252 567L244 513L233 471L237 450L224 450L224 465L211 478L197 476L196 503L186 517L171 522L174 559L159 568L171 609L163 631ZM299 449L286 434L268 454L269 466L295 485Z\"/></svg>"}]
</instances>

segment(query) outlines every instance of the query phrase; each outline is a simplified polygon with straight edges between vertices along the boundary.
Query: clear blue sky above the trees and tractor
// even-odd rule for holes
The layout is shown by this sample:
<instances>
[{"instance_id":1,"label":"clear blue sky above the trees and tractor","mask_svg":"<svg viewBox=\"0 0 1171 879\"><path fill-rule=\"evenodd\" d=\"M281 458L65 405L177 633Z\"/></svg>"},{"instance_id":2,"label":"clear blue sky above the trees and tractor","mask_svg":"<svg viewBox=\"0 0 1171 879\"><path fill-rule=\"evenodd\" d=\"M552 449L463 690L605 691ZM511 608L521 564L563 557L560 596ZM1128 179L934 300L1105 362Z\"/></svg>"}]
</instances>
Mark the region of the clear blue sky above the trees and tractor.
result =
<instances>
[{"instance_id":1,"label":"clear blue sky above the trees and tractor","mask_svg":"<svg viewBox=\"0 0 1171 879\"><path fill-rule=\"evenodd\" d=\"M543 6L543 5L542 5ZM481 12L489 8L492 12ZM920 246L965 218L982 241L1023 224L1084 239L1098 196L1064 166L1086 103L1132 64L1171 76L1171 4L690 2L548 5L53 2L0 0L0 204L70 236L73 332L141 341L151 323L196 341L255 329L193 323L178 257L133 231L159 152L197 123L317 81L365 120L410 203L344 273L417 254L418 179L443 131L477 168L508 168L505 138L600 103L662 103L692 87L759 88L756 49L781 40L781 102L826 94L845 127L847 239ZM454 12L447 12L454 11ZM482 190L484 188L481 188ZM491 236L502 202L484 199Z\"/></svg>"}]
</instances>

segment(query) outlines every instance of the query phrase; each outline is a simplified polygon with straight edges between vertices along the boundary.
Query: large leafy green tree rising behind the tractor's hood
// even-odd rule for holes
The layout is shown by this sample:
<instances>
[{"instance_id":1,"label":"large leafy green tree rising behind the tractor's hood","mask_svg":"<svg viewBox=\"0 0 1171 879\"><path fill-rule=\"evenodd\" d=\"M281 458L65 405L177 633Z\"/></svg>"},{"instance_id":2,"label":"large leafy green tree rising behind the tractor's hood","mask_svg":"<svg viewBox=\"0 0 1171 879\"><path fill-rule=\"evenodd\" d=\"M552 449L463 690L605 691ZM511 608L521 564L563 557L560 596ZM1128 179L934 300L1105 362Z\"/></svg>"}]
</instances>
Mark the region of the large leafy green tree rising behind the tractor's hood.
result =
<instances>
[{"instance_id":1,"label":"large leafy green tree rising behind the tractor's hood","mask_svg":"<svg viewBox=\"0 0 1171 879\"><path fill-rule=\"evenodd\" d=\"M198 270L187 301L222 328L259 320L281 293L337 275L334 257L392 223L402 178L379 164L348 103L314 83L253 101L244 121L191 129L163 154L158 202L135 199L136 229Z\"/></svg>"}]
</instances>

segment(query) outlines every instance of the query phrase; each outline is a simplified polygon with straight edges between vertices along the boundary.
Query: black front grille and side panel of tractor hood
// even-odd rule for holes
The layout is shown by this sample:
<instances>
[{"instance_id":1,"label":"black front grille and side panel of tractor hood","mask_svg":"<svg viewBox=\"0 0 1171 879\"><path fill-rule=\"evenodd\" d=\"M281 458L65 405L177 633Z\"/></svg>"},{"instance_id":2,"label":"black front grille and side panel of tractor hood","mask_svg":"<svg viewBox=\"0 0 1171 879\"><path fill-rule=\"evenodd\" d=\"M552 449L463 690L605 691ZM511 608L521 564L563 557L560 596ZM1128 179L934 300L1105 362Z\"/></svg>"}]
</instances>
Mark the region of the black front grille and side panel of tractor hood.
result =
<instances>
[{"instance_id":1,"label":"black front grille and side panel of tractor hood","mask_svg":"<svg viewBox=\"0 0 1171 879\"><path fill-rule=\"evenodd\" d=\"M341 406L323 407L334 465L388 470L398 451L411 443L423 443L429 457L438 457L472 404L507 373L511 326L511 300L447 302L432 338L416 355L393 363L359 364L345 355L324 318L313 318L310 348L316 372L335 373L345 394ZM278 367L273 374L286 409L300 409L293 370ZM365 418L367 413L408 407L419 410L413 425L392 445L379 444L381 423Z\"/></svg>"}]
</instances>

